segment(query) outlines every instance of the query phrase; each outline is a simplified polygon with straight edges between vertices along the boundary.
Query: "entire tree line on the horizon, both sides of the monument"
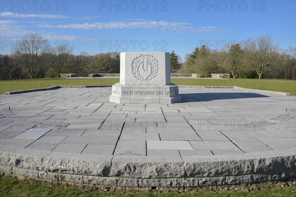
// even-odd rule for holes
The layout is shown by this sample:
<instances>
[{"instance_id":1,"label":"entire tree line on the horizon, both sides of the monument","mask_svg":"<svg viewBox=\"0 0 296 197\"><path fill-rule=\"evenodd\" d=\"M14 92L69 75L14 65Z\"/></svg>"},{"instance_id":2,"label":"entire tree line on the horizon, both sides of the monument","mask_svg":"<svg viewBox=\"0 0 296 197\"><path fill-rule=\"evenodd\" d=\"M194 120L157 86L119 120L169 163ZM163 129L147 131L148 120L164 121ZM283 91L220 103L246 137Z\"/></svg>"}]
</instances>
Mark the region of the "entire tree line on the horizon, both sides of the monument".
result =
<instances>
[{"instance_id":1,"label":"entire tree line on the horizon, both sides of the monument","mask_svg":"<svg viewBox=\"0 0 296 197\"><path fill-rule=\"evenodd\" d=\"M233 78L296 79L296 48L281 50L270 36L247 39L232 44L227 50L197 47L182 63L174 51L170 53L171 71L198 73L230 73ZM37 34L26 35L11 55L0 55L0 80L60 77L61 73L119 73L119 52L89 55L73 54L68 42L51 47L48 40Z\"/></svg>"}]
</instances>

